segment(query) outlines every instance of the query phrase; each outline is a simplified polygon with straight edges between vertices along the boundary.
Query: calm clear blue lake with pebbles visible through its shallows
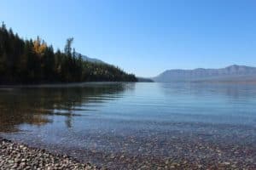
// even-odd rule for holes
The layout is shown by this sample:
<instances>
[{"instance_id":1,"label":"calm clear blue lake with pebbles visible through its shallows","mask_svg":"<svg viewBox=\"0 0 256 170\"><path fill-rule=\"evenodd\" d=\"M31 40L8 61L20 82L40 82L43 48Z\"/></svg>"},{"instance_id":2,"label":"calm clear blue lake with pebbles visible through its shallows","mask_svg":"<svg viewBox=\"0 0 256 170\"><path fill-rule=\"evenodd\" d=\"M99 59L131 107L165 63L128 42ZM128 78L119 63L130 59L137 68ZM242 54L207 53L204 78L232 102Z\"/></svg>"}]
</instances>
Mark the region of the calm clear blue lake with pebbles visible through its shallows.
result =
<instances>
[{"instance_id":1,"label":"calm clear blue lake with pebbles visible through its shallows","mask_svg":"<svg viewBox=\"0 0 256 170\"><path fill-rule=\"evenodd\" d=\"M0 136L110 169L256 168L256 84L0 88Z\"/></svg>"}]
</instances>

